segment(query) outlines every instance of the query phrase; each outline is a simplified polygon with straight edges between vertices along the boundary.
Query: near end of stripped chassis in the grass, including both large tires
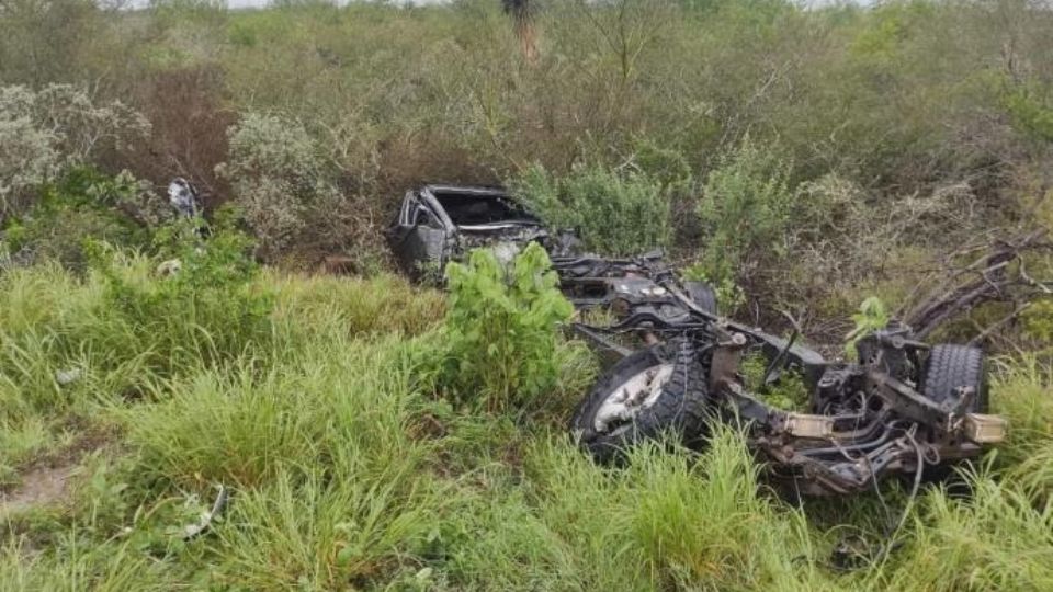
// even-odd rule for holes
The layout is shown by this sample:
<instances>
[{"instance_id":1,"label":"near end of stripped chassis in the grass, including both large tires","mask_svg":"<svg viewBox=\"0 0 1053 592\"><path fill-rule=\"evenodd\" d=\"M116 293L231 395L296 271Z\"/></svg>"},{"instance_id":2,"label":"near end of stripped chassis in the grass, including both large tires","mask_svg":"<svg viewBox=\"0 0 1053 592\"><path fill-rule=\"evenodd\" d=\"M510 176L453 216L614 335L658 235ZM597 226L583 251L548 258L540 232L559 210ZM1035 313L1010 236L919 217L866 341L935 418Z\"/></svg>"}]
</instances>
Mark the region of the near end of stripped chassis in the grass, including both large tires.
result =
<instances>
[{"instance_id":1,"label":"near end of stripped chassis in the grass, including both large tires","mask_svg":"<svg viewBox=\"0 0 1053 592\"><path fill-rule=\"evenodd\" d=\"M807 494L852 493L890 475L937 474L1005 439L1005 420L986 413L984 354L976 348L928 346L894 326L859 341L859 363L828 362L790 340L694 310L672 319L638 312L585 334L602 341L641 326L666 344L614 364L571 421L580 445L601 462L664 431L698 441L705 435L699 421L705 415L745 424L748 445L774 481ZM669 343L691 355L673 355ZM780 372L801 374L812 394L806 412L773 408L747 390L738 371L747 351L761 353ZM609 401L624 399L626 385L638 380L642 360L671 364L656 375L667 380L659 394L658 385L647 384L644 400L652 407L616 408L598 420L611 409Z\"/></svg>"}]
</instances>

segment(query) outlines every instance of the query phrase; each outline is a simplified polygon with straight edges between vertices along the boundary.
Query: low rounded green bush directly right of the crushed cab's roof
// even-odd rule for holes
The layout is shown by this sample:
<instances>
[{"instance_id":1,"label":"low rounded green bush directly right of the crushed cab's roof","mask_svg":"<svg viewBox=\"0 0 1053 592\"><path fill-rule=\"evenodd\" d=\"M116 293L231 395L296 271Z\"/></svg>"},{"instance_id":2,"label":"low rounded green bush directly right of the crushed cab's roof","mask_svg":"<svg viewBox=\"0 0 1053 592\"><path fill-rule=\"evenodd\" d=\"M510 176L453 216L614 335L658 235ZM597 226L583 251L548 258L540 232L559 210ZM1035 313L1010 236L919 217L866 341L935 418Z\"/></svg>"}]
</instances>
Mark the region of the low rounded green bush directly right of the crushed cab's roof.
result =
<instances>
[{"instance_id":1,"label":"low rounded green bush directly right of the crushed cab's roof","mask_svg":"<svg viewBox=\"0 0 1053 592\"><path fill-rule=\"evenodd\" d=\"M676 171L675 161L661 166ZM589 250L635 255L669 247L669 192L647 173L582 166L558 177L535 164L511 185L550 226L577 230Z\"/></svg>"}]
</instances>

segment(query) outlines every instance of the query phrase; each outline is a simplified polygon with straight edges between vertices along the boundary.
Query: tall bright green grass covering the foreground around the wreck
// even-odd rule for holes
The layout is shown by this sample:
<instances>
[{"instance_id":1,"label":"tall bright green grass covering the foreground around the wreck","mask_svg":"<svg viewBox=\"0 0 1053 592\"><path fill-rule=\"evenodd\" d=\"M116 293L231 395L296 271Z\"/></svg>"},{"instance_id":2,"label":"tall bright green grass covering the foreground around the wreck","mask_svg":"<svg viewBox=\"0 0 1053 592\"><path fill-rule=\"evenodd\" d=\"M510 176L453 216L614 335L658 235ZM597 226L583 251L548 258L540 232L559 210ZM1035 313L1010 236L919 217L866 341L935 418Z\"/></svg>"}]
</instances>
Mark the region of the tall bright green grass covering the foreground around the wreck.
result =
<instances>
[{"instance_id":1,"label":"tall bright green grass covering the foreground around the wreck","mask_svg":"<svg viewBox=\"0 0 1053 592\"><path fill-rule=\"evenodd\" d=\"M1051 368L1038 360L995 368L1011 439L965 470L969 496L926 489L908 508L883 483L880 498L797 504L766 487L733 430L702 454L655 445L596 466L564 431L591 363L563 341L544 413L451 405L420 377L442 351L443 299L397 278L264 273L265 342L176 368L144 362L99 282L48 266L0 276L7 487L42 462L76 465L56 503L0 517L2 590L1053 588ZM218 485L227 510L183 542ZM830 553L853 532L878 550L842 572Z\"/></svg>"}]
</instances>

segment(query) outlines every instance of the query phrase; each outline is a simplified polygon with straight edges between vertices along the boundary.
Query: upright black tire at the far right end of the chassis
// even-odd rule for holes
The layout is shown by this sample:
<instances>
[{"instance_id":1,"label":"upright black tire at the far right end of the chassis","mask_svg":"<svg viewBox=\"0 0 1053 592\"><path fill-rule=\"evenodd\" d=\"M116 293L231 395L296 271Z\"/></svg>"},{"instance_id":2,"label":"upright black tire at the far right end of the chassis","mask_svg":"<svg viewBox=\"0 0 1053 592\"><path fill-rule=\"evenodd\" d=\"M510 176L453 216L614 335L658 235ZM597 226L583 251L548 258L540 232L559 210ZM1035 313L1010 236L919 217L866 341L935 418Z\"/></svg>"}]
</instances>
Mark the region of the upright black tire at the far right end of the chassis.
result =
<instances>
[{"instance_id":1,"label":"upright black tire at the far right end of the chassis","mask_svg":"<svg viewBox=\"0 0 1053 592\"><path fill-rule=\"evenodd\" d=\"M976 392L969 411L987 412L987 365L983 350L950 343L933 345L925 363L921 394L943 402L954 397L960 387L972 387Z\"/></svg>"}]
</instances>

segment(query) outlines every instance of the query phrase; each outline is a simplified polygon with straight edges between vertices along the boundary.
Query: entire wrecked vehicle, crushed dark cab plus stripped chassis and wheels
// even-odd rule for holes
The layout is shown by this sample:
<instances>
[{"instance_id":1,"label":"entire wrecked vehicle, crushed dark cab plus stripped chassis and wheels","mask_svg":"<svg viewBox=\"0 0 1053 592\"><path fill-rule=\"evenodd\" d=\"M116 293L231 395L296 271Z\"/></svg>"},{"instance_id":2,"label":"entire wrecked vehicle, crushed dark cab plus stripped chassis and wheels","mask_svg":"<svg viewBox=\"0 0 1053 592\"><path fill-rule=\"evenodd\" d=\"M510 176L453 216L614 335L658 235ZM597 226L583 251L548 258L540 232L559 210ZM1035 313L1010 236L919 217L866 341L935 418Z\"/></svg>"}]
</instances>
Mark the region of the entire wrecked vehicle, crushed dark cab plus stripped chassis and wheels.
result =
<instances>
[{"instance_id":1,"label":"entire wrecked vehicle, crushed dark cab plus stripped chassis and wheels","mask_svg":"<svg viewBox=\"0 0 1053 592\"><path fill-rule=\"evenodd\" d=\"M577 441L599 462L665 433L704 442L707 425L723 421L745 426L773 480L804 494L851 493L891 475L939 478L1005 437L1005 420L987 414L980 349L928 345L893 325L857 342L859 363L830 362L796 343L797 331L782 339L720 317L709 286L680 281L656 254L578 253L573 236L550 232L500 190L409 192L388 239L418 277L472 248L510 258L540 242L579 310L614 315L608 327L574 325L614 358L571 420ZM644 346L625 346L626 334ZM765 385L801 375L807 412L771 407L747 389L739 363L754 353L766 361Z\"/></svg>"}]
</instances>

